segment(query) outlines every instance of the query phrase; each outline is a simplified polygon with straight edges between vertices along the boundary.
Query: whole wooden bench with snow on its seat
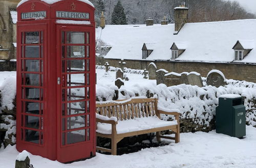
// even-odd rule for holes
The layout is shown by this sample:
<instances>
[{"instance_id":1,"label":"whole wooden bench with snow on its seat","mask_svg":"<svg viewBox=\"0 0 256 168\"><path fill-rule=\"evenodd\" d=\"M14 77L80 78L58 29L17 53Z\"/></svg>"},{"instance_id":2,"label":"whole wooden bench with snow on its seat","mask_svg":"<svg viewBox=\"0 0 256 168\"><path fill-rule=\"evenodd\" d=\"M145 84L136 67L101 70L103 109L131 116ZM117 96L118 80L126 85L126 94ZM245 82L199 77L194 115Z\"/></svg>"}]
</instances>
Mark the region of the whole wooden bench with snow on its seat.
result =
<instances>
[{"instance_id":1,"label":"whole wooden bench with snow on its seat","mask_svg":"<svg viewBox=\"0 0 256 168\"><path fill-rule=\"evenodd\" d=\"M160 108L160 107L159 107ZM163 121L160 114L174 115L174 121ZM96 150L117 154L117 143L124 137L156 132L160 138L180 141L179 113L160 110L155 98L131 98L122 101L96 103L96 136L111 138L111 149L96 147ZM173 130L175 137L160 135L161 131Z\"/></svg>"}]
</instances>

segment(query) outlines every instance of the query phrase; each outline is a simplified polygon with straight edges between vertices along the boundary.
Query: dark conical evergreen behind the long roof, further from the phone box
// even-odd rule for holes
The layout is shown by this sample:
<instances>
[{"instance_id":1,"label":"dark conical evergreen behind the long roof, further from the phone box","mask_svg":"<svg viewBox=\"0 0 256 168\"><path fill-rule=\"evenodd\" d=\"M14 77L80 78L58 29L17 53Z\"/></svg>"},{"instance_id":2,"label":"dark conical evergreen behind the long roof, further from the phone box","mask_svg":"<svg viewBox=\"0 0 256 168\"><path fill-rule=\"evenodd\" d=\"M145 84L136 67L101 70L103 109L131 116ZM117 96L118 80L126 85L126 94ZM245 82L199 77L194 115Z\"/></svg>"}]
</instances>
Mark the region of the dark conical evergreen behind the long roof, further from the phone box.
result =
<instances>
[{"instance_id":1,"label":"dark conical evergreen behind the long roof, further from the phone box","mask_svg":"<svg viewBox=\"0 0 256 168\"><path fill-rule=\"evenodd\" d=\"M112 12L111 24L127 24L126 15L120 1L117 2Z\"/></svg>"}]
</instances>

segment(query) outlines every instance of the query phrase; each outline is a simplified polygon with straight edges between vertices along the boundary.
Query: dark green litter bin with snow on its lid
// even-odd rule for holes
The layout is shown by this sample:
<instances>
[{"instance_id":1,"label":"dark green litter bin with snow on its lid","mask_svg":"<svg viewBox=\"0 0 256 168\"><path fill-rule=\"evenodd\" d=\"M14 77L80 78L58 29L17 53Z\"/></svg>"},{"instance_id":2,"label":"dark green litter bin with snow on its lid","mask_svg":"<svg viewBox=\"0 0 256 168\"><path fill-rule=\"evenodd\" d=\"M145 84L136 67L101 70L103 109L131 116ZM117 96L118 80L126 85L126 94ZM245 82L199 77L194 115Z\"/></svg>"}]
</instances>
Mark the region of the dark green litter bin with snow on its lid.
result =
<instances>
[{"instance_id":1,"label":"dark green litter bin with snow on its lid","mask_svg":"<svg viewBox=\"0 0 256 168\"><path fill-rule=\"evenodd\" d=\"M235 94L221 95L216 107L216 132L242 138L246 135L245 121L242 97Z\"/></svg>"}]
</instances>

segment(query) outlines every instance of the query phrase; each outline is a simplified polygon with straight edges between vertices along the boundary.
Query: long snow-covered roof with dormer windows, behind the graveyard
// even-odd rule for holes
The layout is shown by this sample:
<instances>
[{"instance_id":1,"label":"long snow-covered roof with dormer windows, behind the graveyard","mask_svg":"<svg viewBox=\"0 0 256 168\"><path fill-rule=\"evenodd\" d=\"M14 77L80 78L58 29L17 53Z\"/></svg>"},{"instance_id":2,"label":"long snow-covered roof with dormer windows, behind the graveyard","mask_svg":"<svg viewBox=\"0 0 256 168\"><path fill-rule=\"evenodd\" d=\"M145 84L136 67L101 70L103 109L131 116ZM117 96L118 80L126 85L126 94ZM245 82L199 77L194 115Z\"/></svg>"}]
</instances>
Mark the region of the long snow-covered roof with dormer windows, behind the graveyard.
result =
<instances>
[{"instance_id":1,"label":"long snow-covered roof with dormer windows, behind the graveyard","mask_svg":"<svg viewBox=\"0 0 256 168\"><path fill-rule=\"evenodd\" d=\"M143 60L143 44L152 43L154 51L145 60L170 60L170 47L183 42L179 47L186 50L174 61L199 62L233 62L232 47L245 39L241 44L254 49L239 62L256 63L255 30L256 19L186 23L178 35L173 34L174 24L106 25L96 29L96 38L112 46L105 58Z\"/></svg>"}]
</instances>

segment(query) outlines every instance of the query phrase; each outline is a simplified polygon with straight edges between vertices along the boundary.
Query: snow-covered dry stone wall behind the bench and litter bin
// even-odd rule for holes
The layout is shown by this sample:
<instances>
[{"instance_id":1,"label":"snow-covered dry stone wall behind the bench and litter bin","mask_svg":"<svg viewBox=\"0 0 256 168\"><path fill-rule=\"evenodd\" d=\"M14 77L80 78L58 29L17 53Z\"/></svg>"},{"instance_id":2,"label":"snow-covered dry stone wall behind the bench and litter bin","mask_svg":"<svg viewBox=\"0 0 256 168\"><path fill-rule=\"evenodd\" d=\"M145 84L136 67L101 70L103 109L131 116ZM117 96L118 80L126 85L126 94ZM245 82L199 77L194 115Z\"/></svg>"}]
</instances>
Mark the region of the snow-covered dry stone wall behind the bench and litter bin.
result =
<instances>
[{"instance_id":1,"label":"snow-covered dry stone wall behind the bench and litter bin","mask_svg":"<svg viewBox=\"0 0 256 168\"><path fill-rule=\"evenodd\" d=\"M177 108L181 112L181 132L210 131L215 129L215 113L218 97L223 94L239 94L245 98L246 123L256 125L256 88L250 82L227 80L226 87L205 86L199 88L191 85L166 87L163 84L141 87L122 86L118 99L129 99L134 96L158 97L158 104L167 109ZM205 83L205 82L204 82ZM233 85L233 83L236 83ZM248 87L250 86L250 87ZM99 101L109 101L115 96L113 86L100 86L96 90ZM104 90L104 91L103 91ZM165 120L169 117L163 115Z\"/></svg>"}]
</instances>

